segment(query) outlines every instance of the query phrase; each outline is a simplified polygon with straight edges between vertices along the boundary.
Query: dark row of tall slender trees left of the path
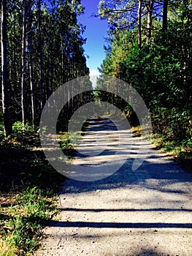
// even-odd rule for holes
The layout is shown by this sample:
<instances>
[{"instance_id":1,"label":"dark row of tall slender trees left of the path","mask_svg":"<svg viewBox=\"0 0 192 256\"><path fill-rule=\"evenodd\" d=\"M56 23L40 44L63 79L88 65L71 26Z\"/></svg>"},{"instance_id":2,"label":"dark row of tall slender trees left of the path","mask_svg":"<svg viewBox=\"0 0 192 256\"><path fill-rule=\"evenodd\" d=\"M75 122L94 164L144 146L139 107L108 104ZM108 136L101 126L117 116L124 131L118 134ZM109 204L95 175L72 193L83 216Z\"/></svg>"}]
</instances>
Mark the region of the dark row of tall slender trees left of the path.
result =
<instances>
[{"instance_id":1,"label":"dark row of tall slender trees left of the path","mask_svg":"<svg viewBox=\"0 0 192 256\"><path fill-rule=\"evenodd\" d=\"M39 124L46 100L73 78L89 74L77 17L80 0L1 0L1 118Z\"/></svg>"}]
</instances>

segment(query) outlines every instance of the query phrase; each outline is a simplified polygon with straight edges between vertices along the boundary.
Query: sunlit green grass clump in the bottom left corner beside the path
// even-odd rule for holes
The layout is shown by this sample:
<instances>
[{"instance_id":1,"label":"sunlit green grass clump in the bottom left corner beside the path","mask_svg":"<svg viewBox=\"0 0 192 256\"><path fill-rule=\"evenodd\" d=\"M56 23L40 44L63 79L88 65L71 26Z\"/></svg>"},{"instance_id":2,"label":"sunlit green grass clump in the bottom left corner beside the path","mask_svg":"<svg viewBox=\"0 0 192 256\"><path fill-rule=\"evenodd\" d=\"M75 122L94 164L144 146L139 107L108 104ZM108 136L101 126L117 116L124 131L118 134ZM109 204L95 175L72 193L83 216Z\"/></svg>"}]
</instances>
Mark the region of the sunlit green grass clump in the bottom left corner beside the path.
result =
<instances>
[{"instance_id":1,"label":"sunlit green grass clump in the bottom left corner beside the path","mask_svg":"<svg viewBox=\"0 0 192 256\"><path fill-rule=\"evenodd\" d=\"M38 247L41 236L41 227L57 212L53 200L53 191L37 187L25 189L10 206L3 211L1 225L9 230L5 234L4 243L10 248L17 249L15 255L31 255ZM3 252L3 246L0 253ZM10 254L11 255L11 254Z\"/></svg>"}]
</instances>

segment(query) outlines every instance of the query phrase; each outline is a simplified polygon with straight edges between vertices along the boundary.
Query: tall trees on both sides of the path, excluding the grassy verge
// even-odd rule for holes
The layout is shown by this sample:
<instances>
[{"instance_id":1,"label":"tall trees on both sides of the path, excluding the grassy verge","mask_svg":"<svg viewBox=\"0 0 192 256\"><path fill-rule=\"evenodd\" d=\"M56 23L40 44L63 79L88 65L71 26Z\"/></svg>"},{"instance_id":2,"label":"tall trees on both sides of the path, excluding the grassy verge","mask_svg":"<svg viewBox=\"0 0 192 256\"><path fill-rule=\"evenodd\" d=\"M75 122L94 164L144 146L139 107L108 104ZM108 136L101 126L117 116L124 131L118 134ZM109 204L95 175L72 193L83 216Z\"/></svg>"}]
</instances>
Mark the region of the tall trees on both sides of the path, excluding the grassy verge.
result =
<instances>
[{"instance_id":1,"label":"tall trees on both sides of the path, excluding the grassy verge","mask_svg":"<svg viewBox=\"0 0 192 256\"><path fill-rule=\"evenodd\" d=\"M99 2L97 15L109 23L101 74L133 86L150 110L153 132L185 148L191 148L191 12L191 1L109 0ZM77 22L82 13L80 1L1 2L1 138L25 124L38 127L53 91L89 75L85 26Z\"/></svg>"}]
</instances>

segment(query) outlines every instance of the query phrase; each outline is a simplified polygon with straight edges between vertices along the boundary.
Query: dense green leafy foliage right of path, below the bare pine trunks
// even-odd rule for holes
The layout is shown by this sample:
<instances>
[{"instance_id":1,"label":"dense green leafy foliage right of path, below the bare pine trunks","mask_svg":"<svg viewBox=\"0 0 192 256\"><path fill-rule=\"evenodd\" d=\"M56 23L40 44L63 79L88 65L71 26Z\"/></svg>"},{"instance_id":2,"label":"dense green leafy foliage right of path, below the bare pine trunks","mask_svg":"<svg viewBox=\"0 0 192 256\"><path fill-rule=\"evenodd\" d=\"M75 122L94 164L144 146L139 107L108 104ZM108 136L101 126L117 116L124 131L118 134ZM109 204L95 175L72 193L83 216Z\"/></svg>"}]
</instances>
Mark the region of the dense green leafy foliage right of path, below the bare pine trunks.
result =
<instances>
[{"instance_id":1,"label":"dense green leafy foliage right of path, below the bare pine trunks","mask_svg":"<svg viewBox=\"0 0 192 256\"><path fill-rule=\"evenodd\" d=\"M191 148L192 10L188 3L172 3L170 20L164 32L161 21L153 20L156 30L147 44L143 37L142 49L137 45L136 28L118 31L111 39L101 72L115 75L137 89L150 110L153 132L161 136L164 143ZM100 2L100 12L104 11L107 18L115 16L115 12L109 12L110 4L110 0ZM123 44L125 39L126 47ZM98 83L98 89L101 84ZM122 102L118 104L120 106ZM130 116L130 111L130 106L124 107L127 116ZM169 147L172 148L169 145L166 149Z\"/></svg>"}]
</instances>

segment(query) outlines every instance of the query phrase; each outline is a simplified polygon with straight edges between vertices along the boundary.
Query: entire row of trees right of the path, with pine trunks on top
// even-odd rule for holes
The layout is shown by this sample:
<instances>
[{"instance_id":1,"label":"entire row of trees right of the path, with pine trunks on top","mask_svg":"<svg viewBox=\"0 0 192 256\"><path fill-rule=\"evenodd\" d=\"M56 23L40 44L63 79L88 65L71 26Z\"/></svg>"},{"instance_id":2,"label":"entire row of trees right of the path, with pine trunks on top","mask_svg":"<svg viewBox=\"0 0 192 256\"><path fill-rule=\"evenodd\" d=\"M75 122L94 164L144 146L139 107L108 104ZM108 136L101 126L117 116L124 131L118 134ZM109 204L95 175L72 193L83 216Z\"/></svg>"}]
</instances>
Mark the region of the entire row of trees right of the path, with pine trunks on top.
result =
<instances>
[{"instance_id":1,"label":"entire row of trees right of the path, with pine trunks on top","mask_svg":"<svg viewBox=\"0 0 192 256\"><path fill-rule=\"evenodd\" d=\"M101 0L99 17L110 26L101 73L137 89L150 110L154 132L191 147L191 1ZM101 86L98 81L97 89ZM121 104L118 97L116 104ZM124 111L132 113L129 106Z\"/></svg>"}]
</instances>

